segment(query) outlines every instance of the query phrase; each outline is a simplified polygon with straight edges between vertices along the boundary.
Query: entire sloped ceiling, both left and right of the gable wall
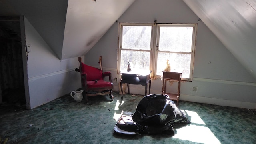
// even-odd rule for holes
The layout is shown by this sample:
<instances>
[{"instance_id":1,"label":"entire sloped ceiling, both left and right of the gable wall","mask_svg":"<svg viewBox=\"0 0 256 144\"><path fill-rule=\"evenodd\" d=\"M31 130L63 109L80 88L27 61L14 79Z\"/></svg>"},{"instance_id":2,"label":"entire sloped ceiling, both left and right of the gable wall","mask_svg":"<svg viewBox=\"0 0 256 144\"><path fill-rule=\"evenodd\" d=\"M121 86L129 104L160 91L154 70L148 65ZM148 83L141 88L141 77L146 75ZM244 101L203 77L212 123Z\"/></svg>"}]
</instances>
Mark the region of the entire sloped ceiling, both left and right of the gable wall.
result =
<instances>
[{"instance_id":1,"label":"entire sloped ceiling, both left and right of the gable wall","mask_svg":"<svg viewBox=\"0 0 256 144\"><path fill-rule=\"evenodd\" d=\"M64 60L86 54L134 1L1 0L0 16L24 15ZM183 1L256 78L256 1Z\"/></svg>"}]
</instances>

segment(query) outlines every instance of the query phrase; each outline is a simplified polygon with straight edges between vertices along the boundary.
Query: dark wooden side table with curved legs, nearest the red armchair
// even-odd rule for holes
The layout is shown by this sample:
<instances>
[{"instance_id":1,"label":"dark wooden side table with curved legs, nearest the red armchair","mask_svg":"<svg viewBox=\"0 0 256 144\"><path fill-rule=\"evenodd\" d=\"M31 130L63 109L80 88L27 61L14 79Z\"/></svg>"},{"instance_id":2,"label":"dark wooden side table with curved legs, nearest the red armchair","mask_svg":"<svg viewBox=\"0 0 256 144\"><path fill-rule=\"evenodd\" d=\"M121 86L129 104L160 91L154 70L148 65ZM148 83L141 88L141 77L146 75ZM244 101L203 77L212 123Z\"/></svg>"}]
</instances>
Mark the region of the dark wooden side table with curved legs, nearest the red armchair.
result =
<instances>
[{"instance_id":1,"label":"dark wooden side table with curved legs, nearest the red armchair","mask_svg":"<svg viewBox=\"0 0 256 144\"><path fill-rule=\"evenodd\" d=\"M128 88L128 94L130 93L129 84L140 84L142 86L145 86L145 96L147 95L147 89L148 89L148 83L149 83L149 90L148 94L150 94L150 88L151 88L151 79L150 79L150 73L152 71L144 71L144 70L137 70L137 71L123 71L120 81L120 87L122 92L122 98L124 97L123 94L123 84L127 84Z\"/></svg>"}]
</instances>

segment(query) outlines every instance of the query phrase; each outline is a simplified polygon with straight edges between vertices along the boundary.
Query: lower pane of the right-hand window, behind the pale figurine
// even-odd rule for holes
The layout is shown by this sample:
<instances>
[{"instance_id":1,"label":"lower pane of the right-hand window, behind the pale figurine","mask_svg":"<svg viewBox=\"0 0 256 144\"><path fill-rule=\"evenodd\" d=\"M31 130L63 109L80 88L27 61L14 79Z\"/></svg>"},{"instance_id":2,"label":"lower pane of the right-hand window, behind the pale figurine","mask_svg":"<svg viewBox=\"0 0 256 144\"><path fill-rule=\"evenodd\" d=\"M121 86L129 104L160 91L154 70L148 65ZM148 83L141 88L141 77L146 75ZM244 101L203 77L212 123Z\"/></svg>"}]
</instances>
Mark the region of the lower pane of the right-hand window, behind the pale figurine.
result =
<instances>
[{"instance_id":1,"label":"lower pane of the right-hand window, behind the pale figurine","mask_svg":"<svg viewBox=\"0 0 256 144\"><path fill-rule=\"evenodd\" d=\"M176 54L158 52L156 74L162 76L162 70L166 68L166 61L169 60L171 70L183 69L182 78L189 78L191 54Z\"/></svg>"}]
</instances>

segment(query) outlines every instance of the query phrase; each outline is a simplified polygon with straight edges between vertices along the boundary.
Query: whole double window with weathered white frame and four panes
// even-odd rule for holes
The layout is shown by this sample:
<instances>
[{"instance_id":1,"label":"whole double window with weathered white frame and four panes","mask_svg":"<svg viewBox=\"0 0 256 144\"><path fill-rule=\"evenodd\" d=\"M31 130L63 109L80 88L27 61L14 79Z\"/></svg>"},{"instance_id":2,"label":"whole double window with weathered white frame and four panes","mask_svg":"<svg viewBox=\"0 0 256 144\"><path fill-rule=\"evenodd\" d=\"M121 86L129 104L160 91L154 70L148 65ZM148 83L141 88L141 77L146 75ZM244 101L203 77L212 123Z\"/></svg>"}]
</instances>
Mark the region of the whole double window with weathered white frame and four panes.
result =
<instances>
[{"instance_id":1,"label":"whole double window with weathered white frame and four panes","mask_svg":"<svg viewBox=\"0 0 256 144\"><path fill-rule=\"evenodd\" d=\"M182 69L182 80L192 80L197 24L119 24L118 72L152 70L160 77L169 60Z\"/></svg>"}]
</instances>

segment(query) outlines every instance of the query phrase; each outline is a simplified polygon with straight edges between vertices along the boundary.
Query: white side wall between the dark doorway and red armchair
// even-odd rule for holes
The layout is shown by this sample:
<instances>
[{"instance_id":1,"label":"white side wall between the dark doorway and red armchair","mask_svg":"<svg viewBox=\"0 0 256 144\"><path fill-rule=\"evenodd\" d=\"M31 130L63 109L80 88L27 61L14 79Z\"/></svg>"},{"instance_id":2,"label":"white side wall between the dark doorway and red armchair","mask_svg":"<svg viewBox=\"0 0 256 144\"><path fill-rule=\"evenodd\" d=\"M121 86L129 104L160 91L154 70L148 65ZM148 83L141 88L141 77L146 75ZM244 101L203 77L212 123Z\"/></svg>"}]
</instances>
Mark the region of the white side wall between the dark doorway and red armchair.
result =
<instances>
[{"instance_id":1,"label":"white side wall between the dark doorway and red armchair","mask_svg":"<svg viewBox=\"0 0 256 144\"><path fill-rule=\"evenodd\" d=\"M28 53L28 85L30 108L50 102L80 88L78 58L59 60L40 34L25 18L26 45Z\"/></svg>"}]
</instances>

